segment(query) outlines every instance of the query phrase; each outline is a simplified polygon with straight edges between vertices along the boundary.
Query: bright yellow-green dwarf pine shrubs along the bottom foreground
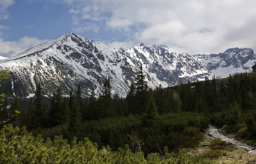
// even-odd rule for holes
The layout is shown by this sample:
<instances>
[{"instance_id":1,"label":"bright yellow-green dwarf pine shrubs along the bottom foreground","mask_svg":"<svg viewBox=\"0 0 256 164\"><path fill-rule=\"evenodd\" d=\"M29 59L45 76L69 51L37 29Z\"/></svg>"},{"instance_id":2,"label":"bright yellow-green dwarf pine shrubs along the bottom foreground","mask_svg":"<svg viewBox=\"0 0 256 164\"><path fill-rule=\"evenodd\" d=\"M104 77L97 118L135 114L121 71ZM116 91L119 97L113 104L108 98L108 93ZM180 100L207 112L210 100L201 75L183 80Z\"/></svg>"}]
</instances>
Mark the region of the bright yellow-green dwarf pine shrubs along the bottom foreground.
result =
<instances>
[{"instance_id":1,"label":"bright yellow-green dwarf pine shrubs along the bottom foreground","mask_svg":"<svg viewBox=\"0 0 256 164\"><path fill-rule=\"evenodd\" d=\"M134 153L129 146L116 151L109 146L99 149L88 138L83 141L74 138L71 144L62 136L43 141L40 135L34 137L25 127L13 128L11 124L1 129L0 148L1 163L209 163L184 150L172 156L167 147L164 154L151 153L145 158L140 149Z\"/></svg>"}]
</instances>

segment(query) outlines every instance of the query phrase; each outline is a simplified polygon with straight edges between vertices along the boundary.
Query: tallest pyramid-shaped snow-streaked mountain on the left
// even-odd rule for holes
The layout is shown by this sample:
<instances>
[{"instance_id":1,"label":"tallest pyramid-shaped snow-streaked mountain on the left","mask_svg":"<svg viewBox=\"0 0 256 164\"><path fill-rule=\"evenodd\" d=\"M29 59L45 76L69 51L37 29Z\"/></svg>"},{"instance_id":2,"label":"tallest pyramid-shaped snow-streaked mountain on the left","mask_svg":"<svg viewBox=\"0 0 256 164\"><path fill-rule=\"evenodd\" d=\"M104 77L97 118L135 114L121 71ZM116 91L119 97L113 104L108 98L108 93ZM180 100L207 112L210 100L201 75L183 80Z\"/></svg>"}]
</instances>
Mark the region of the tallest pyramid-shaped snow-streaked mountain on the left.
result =
<instances>
[{"instance_id":1,"label":"tallest pyramid-shaped snow-streaked mountain on the left","mask_svg":"<svg viewBox=\"0 0 256 164\"><path fill-rule=\"evenodd\" d=\"M0 65L10 70L13 92L18 95L34 93L36 83L42 85L44 94L52 94L58 86L68 94L71 90L75 92L78 85L86 95L93 88L101 93L105 77L115 83L114 91L125 95L129 81L124 78L122 68L133 72L125 58L110 47L75 33L35 46L1 61Z\"/></svg>"}]
</instances>

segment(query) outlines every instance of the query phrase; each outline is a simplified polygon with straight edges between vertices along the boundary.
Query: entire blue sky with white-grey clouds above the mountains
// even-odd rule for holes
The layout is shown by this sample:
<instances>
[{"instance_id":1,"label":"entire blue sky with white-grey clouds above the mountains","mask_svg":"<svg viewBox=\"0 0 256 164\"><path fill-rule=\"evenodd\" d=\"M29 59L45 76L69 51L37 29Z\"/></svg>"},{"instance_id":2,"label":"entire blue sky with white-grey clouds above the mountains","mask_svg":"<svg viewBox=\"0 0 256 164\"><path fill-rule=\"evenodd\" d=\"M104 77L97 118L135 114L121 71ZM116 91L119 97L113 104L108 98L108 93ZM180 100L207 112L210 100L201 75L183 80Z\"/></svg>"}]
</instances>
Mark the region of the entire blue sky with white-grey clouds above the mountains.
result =
<instances>
[{"instance_id":1,"label":"entire blue sky with white-grey clouds above the mountains","mask_svg":"<svg viewBox=\"0 0 256 164\"><path fill-rule=\"evenodd\" d=\"M75 32L117 49L142 42L190 55L256 51L255 0L0 0L0 55Z\"/></svg>"}]
</instances>

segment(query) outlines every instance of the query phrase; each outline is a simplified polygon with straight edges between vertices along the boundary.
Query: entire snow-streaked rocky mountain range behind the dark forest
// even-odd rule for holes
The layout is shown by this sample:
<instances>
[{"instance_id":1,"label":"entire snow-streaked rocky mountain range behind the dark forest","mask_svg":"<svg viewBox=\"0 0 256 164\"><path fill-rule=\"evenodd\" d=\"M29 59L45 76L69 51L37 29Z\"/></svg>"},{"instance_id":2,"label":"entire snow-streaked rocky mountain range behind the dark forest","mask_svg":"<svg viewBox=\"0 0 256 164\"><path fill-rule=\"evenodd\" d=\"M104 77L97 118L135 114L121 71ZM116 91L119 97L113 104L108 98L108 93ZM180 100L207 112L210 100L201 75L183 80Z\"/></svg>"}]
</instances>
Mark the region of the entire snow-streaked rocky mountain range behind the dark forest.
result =
<instances>
[{"instance_id":1,"label":"entire snow-streaked rocky mountain range behind the dark forest","mask_svg":"<svg viewBox=\"0 0 256 164\"><path fill-rule=\"evenodd\" d=\"M205 78L228 77L229 74L252 72L256 55L252 49L233 48L224 53L188 55L167 46L137 44L131 49L111 48L75 33L31 47L14 57L0 60L0 68L11 77L1 82L0 92L10 97L33 96L40 83L45 96L57 87L64 94L75 92L78 85L84 96L92 90L99 96L106 77L112 94L125 97L136 81L140 66L149 87L168 87Z\"/></svg>"}]
</instances>

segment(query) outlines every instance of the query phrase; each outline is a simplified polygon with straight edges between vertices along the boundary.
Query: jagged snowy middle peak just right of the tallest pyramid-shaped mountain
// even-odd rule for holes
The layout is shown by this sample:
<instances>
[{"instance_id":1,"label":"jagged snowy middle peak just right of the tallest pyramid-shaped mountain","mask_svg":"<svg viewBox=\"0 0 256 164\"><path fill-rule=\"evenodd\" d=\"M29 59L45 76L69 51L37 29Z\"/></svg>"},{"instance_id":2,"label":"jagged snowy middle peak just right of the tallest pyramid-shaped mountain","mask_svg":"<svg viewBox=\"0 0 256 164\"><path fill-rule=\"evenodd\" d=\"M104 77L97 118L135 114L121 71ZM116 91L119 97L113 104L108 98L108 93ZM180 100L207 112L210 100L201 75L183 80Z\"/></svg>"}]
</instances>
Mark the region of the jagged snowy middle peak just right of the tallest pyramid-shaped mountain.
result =
<instances>
[{"instance_id":1,"label":"jagged snowy middle peak just right of the tallest pyramid-shaped mountain","mask_svg":"<svg viewBox=\"0 0 256 164\"><path fill-rule=\"evenodd\" d=\"M212 74L192 56L178 53L167 46L147 47L137 44L127 50L125 55L137 66L142 64L149 78L161 83L163 87L187 83L188 80L203 80L205 76L212 77Z\"/></svg>"}]
</instances>

